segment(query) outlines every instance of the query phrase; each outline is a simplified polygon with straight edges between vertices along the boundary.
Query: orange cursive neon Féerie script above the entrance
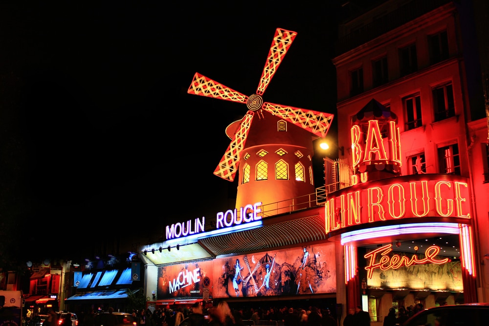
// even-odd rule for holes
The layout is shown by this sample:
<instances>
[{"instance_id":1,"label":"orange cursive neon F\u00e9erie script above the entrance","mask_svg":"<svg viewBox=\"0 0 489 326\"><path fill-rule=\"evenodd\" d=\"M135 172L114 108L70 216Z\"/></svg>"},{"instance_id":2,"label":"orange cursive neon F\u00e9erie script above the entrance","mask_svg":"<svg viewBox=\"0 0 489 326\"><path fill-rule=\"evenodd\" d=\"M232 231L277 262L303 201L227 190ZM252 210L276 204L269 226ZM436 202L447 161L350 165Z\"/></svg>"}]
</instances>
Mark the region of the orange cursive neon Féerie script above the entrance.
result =
<instances>
[{"instance_id":1,"label":"orange cursive neon F\u00e9erie script above the entrance","mask_svg":"<svg viewBox=\"0 0 489 326\"><path fill-rule=\"evenodd\" d=\"M414 250L418 250L418 247L414 247ZM426 248L424 255L426 256L423 259L419 259L418 256L413 255L411 258L407 256L393 255L392 257L387 256L392 251L392 243L386 244L376 250L369 252L364 255L366 259L370 258L370 263L365 267L368 271L367 278L371 279L372 274L374 273L374 269L379 268L383 271L392 269L398 269L401 266L409 267L413 264L426 264L426 263L434 263L434 264L443 264L448 261L448 258L438 260L436 256L440 253L440 247L438 246L429 246ZM377 256L380 254L380 259L377 261Z\"/></svg>"}]
</instances>

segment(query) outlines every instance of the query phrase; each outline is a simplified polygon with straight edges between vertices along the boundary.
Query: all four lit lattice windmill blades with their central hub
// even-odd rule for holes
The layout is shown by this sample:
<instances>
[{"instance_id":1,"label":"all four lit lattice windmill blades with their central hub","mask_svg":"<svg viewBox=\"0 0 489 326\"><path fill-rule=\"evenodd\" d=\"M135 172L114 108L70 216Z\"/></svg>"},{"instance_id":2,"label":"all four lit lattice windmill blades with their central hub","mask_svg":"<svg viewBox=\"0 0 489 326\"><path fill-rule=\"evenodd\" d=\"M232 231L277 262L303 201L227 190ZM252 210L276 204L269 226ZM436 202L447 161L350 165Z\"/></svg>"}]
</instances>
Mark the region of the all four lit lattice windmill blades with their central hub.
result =
<instances>
[{"instance_id":1,"label":"all four lit lattice windmill blades with their central hub","mask_svg":"<svg viewBox=\"0 0 489 326\"><path fill-rule=\"evenodd\" d=\"M253 117L255 114L261 114L261 110L279 116L302 129L310 131L318 137L324 137L328 133L333 114L267 103L262 98L263 93L267 89L278 66L282 63L296 35L296 32L277 28L256 94L251 96L246 96L199 73L194 75L192 84L187 91L189 94L241 102L246 104L248 108L248 112L244 115L240 127L214 171L214 174L217 176L229 181L234 180L234 176L238 172L240 153L244 149Z\"/></svg>"}]
</instances>

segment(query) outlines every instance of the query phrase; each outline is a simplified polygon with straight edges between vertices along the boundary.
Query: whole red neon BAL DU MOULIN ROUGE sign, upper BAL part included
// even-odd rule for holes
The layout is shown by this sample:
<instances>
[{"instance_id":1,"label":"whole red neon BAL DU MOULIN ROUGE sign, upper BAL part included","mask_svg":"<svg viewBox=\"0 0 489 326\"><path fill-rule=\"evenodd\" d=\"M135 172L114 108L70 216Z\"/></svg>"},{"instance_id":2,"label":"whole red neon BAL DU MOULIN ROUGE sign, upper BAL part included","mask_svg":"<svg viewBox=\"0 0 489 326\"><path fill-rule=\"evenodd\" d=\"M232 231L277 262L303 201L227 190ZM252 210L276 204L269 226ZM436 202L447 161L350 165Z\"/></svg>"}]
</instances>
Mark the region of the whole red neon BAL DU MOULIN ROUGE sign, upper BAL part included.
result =
<instances>
[{"instance_id":1,"label":"whole red neon BAL DU MOULIN ROUGE sign, upper BAL part included","mask_svg":"<svg viewBox=\"0 0 489 326\"><path fill-rule=\"evenodd\" d=\"M328 195L326 232L403 218L470 218L468 179L448 174L415 174L369 181L368 166L399 169L399 128L390 121L381 132L378 121L352 127L353 186ZM388 137L382 138L382 134ZM363 139L365 141L363 142Z\"/></svg>"}]
</instances>

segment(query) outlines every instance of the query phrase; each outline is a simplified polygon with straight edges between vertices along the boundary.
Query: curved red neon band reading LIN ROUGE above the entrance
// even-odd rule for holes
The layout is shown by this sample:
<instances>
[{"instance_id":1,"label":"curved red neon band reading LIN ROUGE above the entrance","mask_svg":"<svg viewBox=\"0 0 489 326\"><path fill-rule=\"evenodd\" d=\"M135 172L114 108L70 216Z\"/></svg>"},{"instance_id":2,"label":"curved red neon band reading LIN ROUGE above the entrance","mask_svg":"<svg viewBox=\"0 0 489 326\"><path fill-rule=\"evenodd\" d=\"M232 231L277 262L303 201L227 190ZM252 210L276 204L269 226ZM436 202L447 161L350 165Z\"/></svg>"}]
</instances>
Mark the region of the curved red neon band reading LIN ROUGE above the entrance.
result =
<instances>
[{"instance_id":1,"label":"curved red neon band reading LIN ROUGE above the entrance","mask_svg":"<svg viewBox=\"0 0 489 326\"><path fill-rule=\"evenodd\" d=\"M390 182L390 183L389 183ZM470 218L467 179L407 175L332 193L325 205L326 232L352 225L409 217Z\"/></svg>"}]
</instances>

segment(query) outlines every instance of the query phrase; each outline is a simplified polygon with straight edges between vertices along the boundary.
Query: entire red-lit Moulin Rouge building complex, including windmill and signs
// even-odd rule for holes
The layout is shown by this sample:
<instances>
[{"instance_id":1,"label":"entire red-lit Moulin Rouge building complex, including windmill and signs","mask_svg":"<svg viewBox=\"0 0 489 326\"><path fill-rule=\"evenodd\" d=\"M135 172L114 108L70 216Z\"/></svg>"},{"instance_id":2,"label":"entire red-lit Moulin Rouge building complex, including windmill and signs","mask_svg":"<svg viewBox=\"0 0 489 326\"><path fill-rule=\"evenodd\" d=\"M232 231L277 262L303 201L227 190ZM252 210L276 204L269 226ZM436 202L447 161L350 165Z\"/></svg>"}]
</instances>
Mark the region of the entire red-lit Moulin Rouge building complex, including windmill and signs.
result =
<instances>
[{"instance_id":1,"label":"entire red-lit Moulin Rouge building complex, including windmill and signs","mask_svg":"<svg viewBox=\"0 0 489 326\"><path fill-rule=\"evenodd\" d=\"M236 208L183 218L138 248L148 306L273 301L343 318L362 304L379 325L392 306L488 302L488 125L466 10L385 1L339 26L339 160L325 160L323 193L310 139L328 114L263 102L266 73L258 97L196 74L189 93L249 109L215 171L237 176ZM286 50L272 43L267 63L293 37L277 30Z\"/></svg>"}]
</instances>

